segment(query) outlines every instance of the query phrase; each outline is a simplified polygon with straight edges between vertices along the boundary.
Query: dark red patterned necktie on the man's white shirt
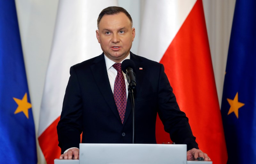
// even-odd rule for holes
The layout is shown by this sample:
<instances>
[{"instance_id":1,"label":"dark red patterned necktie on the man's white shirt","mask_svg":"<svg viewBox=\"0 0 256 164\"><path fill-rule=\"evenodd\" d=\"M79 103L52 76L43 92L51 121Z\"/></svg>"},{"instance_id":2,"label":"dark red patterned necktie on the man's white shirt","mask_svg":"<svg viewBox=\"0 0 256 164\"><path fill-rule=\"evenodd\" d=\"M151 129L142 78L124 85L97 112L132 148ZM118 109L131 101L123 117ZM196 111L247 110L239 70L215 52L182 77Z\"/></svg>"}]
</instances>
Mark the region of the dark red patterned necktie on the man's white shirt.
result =
<instances>
[{"instance_id":1,"label":"dark red patterned necktie on the man's white shirt","mask_svg":"<svg viewBox=\"0 0 256 164\"><path fill-rule=\"evenodd\" d=\"M113 67L117 71L114 85L114 99L121 121L124 123L124 114L127 103L124 75L121 69L121 63L115 63Z\"/></svg>"}]
</instances>

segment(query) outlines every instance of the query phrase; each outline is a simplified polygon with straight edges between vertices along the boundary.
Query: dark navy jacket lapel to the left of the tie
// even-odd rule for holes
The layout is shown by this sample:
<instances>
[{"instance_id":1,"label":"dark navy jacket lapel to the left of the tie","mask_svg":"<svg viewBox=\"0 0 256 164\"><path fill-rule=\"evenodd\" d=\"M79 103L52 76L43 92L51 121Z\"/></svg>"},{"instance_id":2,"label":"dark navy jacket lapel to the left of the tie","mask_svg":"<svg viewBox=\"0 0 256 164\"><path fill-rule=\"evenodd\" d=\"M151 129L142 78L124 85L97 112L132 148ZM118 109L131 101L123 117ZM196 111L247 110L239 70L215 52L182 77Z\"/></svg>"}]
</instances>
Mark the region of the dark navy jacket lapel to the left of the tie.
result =
<instances>
[{"instance_id":1,"label":"dark navy jacket lapel to the left of the tie","mask_svg":"<svg viewBox=\"0 0 256 164\"><path fill-rule=\"evenodd\" d=\"M121 122L119 113L116 108L116 103L111 90L111 86L109 84L108 72L107 72L106 62L105 62L103 53L95 59L94 64L91 65L91 70L92 70L93 78L95 79L96 84L99 87L102 96L106 100L109 108L113 111L114 115Z\"/></svg>"}]
</instances>

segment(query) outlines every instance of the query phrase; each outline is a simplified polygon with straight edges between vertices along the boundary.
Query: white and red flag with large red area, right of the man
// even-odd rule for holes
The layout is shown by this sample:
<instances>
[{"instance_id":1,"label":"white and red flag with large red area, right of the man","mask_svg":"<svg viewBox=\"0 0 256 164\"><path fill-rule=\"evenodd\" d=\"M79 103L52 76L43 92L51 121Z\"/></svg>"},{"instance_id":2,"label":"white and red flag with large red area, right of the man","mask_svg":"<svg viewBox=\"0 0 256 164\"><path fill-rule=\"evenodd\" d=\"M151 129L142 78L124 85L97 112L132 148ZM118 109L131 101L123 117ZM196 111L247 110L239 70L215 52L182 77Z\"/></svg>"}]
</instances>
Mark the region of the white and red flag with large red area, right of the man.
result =
<instances>
[{"instance_id":1,"label":"white and red flag with large red area, right of the man","mask_svg":"<svg viewBox=\"0 0 256 164\"><path fill-rule=\"evenodd\" d=\"M138 55L164 64L199 148L227 163L202 0L145 1ZM159 118L157 143L171 142Z\"/></svg>"}]
</instances>

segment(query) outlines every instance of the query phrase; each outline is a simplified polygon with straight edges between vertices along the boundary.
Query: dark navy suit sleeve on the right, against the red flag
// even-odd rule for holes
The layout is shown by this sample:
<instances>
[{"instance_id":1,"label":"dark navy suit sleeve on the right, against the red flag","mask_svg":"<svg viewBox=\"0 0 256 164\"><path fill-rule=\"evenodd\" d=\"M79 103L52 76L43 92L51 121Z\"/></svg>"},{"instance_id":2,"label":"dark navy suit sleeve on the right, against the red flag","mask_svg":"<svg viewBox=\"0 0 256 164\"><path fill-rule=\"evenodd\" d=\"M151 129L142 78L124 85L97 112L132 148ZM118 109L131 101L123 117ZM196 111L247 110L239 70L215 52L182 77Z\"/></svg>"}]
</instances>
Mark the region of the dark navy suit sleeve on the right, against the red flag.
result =
<instances>
[{"instance_id":1,"label":"dark navy suit sleeve on the right, against the red flag","mask_svg":"<svg viewBox=\"0 0 256 164\"><path fill-rule=\"evenodd\" d=\"M170 133L172 141L176 144L187 144L187 150L198 149L188 118L184 112L180 111L172 87L164 73L163 64L160 68L158 87L158 115L164 124L164 130Z\"/></svg>"}]
</instances>

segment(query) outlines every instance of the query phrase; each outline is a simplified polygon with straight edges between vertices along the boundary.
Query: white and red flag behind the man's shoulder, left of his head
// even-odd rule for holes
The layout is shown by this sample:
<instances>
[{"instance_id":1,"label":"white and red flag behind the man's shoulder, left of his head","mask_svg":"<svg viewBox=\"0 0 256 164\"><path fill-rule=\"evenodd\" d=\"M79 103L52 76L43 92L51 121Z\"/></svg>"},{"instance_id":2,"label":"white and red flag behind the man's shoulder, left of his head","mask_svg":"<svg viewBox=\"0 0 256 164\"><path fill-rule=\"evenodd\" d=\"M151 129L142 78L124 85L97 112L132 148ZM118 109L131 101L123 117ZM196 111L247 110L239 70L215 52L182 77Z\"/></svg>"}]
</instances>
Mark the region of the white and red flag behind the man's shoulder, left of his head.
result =
<instances>
[{"instance_id":1,"label":"white and red flag behind the man's shoulder, left of his head","mask_svg":"<svg viewBox=\"0 0 256 164\"><path fill-rule=\"evenodd\" d=\"M56 126L68 84L69 68L102 53L96 38L100 11L117 0L60 0L46 73L38 130L39 145L48 164L60 157Z\"/></svg>"}]
</instances>

